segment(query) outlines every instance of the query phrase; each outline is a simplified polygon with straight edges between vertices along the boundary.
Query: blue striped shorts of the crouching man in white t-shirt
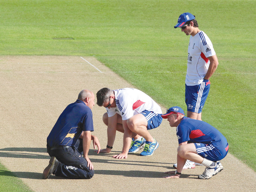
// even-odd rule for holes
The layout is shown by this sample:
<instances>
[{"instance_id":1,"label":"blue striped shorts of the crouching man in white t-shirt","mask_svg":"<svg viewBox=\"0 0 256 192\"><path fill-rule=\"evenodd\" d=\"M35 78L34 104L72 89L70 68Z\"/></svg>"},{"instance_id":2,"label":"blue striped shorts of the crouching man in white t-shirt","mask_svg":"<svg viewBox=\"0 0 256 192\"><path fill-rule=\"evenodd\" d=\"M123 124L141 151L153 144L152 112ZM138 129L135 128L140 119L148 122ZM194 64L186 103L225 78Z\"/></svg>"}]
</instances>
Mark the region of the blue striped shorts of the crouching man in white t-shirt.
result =
<instances>
[{"instance_id":1,"label":"blue striped shorts of the crouching man in white t-shirt","mask_svg":"<svg viewBox=\"0 0 256 192\"><path fill-rule=\"evenodd\" d=\"M148 121L148 130L158 127L163 121L163 117L161 116L163 114L157 114L154 111L144 110L141 114L144 115Z\"/></svg>"}]
</instances>

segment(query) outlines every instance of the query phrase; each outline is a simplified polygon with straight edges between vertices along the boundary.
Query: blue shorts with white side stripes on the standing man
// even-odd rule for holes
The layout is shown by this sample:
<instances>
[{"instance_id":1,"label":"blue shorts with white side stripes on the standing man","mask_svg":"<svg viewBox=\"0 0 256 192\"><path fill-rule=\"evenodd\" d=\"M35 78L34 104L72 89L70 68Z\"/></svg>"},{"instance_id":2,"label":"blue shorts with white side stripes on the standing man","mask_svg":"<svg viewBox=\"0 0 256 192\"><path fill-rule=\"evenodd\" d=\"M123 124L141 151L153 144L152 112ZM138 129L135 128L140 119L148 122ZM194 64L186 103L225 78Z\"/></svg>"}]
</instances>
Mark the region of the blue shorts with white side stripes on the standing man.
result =
<instances>
[{"instance_id":1,"label":"blue shorts with white side stripes on the standing man","mask_svg":"<svg viewBox=\"0 0 256 192\"><path fill-rule=\"evenodd\" d=\"M205 80L198 85L188 86L185 90L185 102L187 104L187 111L201 113L204 103L210 91L210 81Z\"/></svg>"}]
</instances>

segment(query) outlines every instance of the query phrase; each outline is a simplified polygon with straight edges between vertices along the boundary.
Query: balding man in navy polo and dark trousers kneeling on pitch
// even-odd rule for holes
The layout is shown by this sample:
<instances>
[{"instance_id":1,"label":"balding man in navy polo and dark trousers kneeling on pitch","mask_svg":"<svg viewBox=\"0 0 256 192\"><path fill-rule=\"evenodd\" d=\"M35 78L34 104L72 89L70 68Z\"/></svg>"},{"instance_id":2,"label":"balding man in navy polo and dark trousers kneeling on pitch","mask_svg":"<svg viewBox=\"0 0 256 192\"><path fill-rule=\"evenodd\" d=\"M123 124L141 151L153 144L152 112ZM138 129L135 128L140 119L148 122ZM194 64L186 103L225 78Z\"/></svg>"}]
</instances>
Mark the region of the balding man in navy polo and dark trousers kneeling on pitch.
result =
<instances>
[{"instance_id":1,"label":"balding man in navy polo and dark trousers kneeling on pitch","mask_svg":"<svg viewBox=\"0 0 256 192\"><path fill-rule=\"evenodd\" d=\"M92 107L95 96L89 90L79 93L75 103L69 104L61 113L47 137L47 152L51 156L44 169L43 179L51 174L69 179L91 179L93 165L88 157L91 140L94 149L100 143L93 130ZM84 157L82 156L84 154Z\"/></svg>"}]
</instances>

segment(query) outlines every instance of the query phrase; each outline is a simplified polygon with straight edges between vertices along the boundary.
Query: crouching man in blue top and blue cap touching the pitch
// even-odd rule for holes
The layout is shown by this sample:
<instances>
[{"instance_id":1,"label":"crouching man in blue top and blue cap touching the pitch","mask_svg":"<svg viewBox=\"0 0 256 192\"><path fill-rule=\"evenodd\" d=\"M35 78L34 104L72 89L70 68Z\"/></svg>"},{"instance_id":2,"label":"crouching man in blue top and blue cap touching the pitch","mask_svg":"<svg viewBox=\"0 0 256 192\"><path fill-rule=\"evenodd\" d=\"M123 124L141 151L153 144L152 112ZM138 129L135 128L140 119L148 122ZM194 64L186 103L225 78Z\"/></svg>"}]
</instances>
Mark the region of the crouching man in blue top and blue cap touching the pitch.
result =
<instances>
[{"instance_id":1,"label":"crouching man in blue top and blue cap touching the pitch","mask_svg":"<svg viewBox=\"0 0 256 192\"><path fill-rule=\"evenodd\" d=\"M180 107L169 108L162 115L171 127L177 127L179 141L177 149L177 171L165 172L173 174L165 178L180 178L187 159L204 165L206 168L199 179L210 179L223 169L220 160L228 153L227 139L212 125L185 116ZM188 142L189 141L189 142Z\"/></svg>"}]
</instances>

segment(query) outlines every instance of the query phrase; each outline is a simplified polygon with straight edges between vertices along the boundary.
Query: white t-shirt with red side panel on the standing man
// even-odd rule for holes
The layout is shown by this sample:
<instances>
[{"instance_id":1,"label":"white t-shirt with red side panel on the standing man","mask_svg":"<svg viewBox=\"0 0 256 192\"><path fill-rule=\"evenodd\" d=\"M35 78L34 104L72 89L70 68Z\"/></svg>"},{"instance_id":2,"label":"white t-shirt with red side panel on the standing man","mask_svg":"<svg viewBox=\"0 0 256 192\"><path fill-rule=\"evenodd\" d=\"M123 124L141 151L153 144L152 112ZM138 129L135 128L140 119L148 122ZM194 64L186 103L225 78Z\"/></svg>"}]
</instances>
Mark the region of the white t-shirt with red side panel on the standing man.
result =
<instances>
[{"instance_id":1,"label":"white t-shirt with red side panel on the standing man","mask_svg":"<svg viewBox=\"0 0 256 192\"><path fill-rule=\"evenodd\" d=\"M185 83L188 86L201 84L206 75L210 61L207 57L216 55L209 37L200 31L190 36L188 44L188 68Z\"/></svg>"}]
</instances>

